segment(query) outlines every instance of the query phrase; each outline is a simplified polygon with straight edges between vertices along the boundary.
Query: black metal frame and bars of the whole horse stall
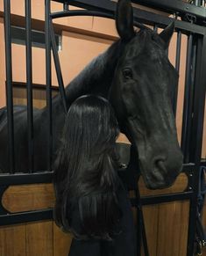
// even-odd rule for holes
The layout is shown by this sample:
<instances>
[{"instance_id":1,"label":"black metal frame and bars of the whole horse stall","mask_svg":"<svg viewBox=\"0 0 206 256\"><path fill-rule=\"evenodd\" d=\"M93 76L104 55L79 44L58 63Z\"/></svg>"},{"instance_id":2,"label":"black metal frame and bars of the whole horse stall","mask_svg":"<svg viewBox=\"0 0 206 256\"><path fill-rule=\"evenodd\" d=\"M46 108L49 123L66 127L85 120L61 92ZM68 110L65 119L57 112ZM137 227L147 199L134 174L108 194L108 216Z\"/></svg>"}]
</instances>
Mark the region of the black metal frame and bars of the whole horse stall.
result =
<instances>
[{"instance_id":1,"label":"black metal frame and bars of the whole horse stall","mask_svg":"<svg viewBox=\"0 0 206 256\"><path fill-rule=\"evenodd\" d=\"M46 3L46 105L48 116L48 157L47 171L42 173L32 173L32 44L31 44L31 0L25 0L25 17L26 17L26 77L27 77L27 106L28 106L28 127L29 127L29 149L30 149L30 174L14 174L3 175L0 177L0 196L4 190L11 185L17 184L32 184L32 183L49 183L52 181L51 157L52 157L52 100L51 100L51 49L53 50L53 59L57 72L58 82L60 86L60 95L63 101L65 112L67 112L67 102L65 99L65 91L63 79L60 71L60 61L53 41L53 18L66 16L99 16L105 18L114 18L116 4L109 0L59 0L63 4L63 11L51 13L50 0L45 0ZM202 25L205 23L206 11L203 8L195 5L182 3L178 0L134 0L133 3L146 5L158 10L164 10L175 15L192 17L191 23L181 20L175 20L175 29L178 32L177 52L175 68L180 69L180 52L181 52L181 33L188 35L188 63L186 72L185 84L185 99L183 113L183 128L181 147L185 157L185 163L193 163L192 165L184 165L184 172L188 175L188 188L186 191L177 194L164 194L159 196L141 197L139 190L136 189L136 199L131 199L131 202L136 206L141 213L141 206L147 204L156 204L166 201L189 200L189 228L188 228L188 252L187 256L193 255L194 239L195 239L195 215L197 204L197 191L199 172L201 165L201 150L202 150L202 129L204 117L204 100L206 91L206 72L204 67L206 64L206 28ZM86 11L69 11L69 5L87 9ZM8 107L8 134L10 145L10 163L11 174L15 172L14 165L14 136L13 136L13 111L12 111L12 69L11 69L11 7L10 0L4 0L4 27L5 27L5 53L6 53L6 95ZM195 18L194 18L195 17ZM158 14L134 10L134 20L136 22L144 22L148 25L153 25L155 28L167 26L171 22L171 18L163 17ZM195 24L194 24L195 21ZM190 69L193 67L192 76ZM177 95L177 88L174 95ZM176 99L174 100L174 113L176 111ZM139 198L139 201L137 201ZM32 211L18 214L9 214L0 204L0 225L22 223L33 220L51 219L52 209L42 211ZM143 242L146 255L149 255L146 245L146 233L144 229L144 217L140 215L138 230L139 235L143 234ZM140 255L140 254L139 254Z\"/></svg>"}]
</instances>

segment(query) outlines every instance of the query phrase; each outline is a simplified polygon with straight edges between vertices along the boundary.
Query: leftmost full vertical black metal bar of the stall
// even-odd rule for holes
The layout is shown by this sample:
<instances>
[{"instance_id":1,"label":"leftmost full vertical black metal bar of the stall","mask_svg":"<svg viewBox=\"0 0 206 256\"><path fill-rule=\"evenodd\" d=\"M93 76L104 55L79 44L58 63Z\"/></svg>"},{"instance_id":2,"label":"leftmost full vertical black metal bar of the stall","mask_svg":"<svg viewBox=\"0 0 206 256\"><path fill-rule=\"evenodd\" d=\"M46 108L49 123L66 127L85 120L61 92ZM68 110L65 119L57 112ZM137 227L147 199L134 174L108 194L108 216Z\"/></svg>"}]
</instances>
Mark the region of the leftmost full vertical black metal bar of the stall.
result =
<instances>
[{"instance_id":1,"label":"leftmost full vertical black metal bar of the stall","mask_svg":"<svg viewBox=\"0 0 206 256\"><path fill-rule=\"evenodd\" d=\"M4 0L4 38L5 38L5 64L6 64L6 105L9 140L9 166L10 172L15 172L14 150L14 121L13 121L13 91L12 91L12 59L11 59L11 3Z\"/></svg>"}]
</instances>

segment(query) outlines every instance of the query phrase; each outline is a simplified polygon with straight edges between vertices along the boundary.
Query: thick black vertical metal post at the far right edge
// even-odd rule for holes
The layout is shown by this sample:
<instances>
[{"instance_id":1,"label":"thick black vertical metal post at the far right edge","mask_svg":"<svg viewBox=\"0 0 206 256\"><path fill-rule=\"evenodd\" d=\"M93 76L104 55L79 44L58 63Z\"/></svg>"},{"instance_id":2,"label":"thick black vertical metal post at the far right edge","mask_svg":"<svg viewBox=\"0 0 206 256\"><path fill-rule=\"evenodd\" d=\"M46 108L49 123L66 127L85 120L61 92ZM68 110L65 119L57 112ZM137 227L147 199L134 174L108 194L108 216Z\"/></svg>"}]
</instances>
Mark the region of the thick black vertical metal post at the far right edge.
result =
<instances>
[{"instance_id":1,"label":"thick black vertical metal post at the far right edge","mask_svg":"<svg viewBox=\"0 0 206 256\"><path fill-rule=\"evenodd\" d=\"M189 207L189 223L188 223L188 254L193 255L195 241L195 217L197 208L199 168L202 155L202 132L204 121L204 104L206 92L206 36L197 40L197 56L196 56L196 75L195 75L195 95L193 106L193 122L191 133L190 161L195 163L195 172L193 177L192 189L193 197L190 200Z\"/></svg>"}]
</instances>

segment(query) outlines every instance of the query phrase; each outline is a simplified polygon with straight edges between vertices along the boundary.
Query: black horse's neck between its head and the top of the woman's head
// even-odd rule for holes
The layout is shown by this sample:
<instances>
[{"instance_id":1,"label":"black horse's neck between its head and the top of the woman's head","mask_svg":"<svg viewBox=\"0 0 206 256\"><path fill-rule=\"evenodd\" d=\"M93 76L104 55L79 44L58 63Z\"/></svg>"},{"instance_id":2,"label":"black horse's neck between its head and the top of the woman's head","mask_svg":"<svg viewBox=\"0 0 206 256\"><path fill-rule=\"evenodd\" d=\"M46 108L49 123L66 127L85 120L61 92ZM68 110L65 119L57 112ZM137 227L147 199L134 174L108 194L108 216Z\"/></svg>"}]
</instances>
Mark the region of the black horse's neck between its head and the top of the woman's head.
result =
<instances>
[{"instance_id":1,"label":"black horse's neck between its head and the top of the woman's head","mask_svg":"<svg viewBox=\"0 0 206 256\"><path fill-rule=\"evenodd\" d=\"M98 55L82 69L82 72L75 77L66 87L68 105L83 94L96 94L108 97L110 84L114 76L119 56L124 48L121 40L114 42L103 54ZM60 94L54 99L61 100Z\"/></svg>"}]
</instances>

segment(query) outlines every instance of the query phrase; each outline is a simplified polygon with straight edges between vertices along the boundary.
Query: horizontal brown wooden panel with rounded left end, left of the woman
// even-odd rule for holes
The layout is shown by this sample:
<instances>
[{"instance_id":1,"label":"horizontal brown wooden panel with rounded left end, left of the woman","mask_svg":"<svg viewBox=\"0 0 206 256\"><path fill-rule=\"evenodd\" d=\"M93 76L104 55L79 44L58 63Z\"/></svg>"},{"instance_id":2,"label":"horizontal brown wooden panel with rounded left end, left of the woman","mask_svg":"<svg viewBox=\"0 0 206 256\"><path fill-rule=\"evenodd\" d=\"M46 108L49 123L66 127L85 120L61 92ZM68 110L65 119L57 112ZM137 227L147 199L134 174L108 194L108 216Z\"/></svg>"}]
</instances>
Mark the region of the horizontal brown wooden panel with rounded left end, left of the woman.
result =
<instances>
[{"instance_id":1,"label":"horizontal brown wooden panel with rounded left end, left of the woman","mask_svg":"<svg viewBox=\"0 0 206 256\"><path fill-rule=\"evenodd\" d=\"M19 212L52 208L54 203L52 184L11 186L3 195L4 208Z\"/></svg>"}]
</instances>

